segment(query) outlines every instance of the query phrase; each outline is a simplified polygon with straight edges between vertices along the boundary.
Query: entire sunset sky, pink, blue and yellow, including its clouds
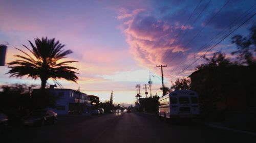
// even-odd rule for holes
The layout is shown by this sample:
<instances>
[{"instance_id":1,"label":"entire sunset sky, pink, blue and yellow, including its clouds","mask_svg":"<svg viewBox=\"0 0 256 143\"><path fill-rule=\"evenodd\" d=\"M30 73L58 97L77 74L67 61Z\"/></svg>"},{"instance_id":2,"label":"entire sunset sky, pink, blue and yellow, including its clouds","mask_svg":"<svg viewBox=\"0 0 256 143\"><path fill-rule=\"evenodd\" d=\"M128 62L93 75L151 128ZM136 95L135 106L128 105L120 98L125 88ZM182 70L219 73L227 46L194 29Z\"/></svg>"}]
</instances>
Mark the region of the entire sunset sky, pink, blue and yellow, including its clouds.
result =
<instances>
[{"instance_id":1,"label":"entire sunset sky, pink, blue and yellow, including its clouds","mask_svg":"<svg viewBox=\"0 0 256 143\"><path fill-rule=\"evenodd\" d=\"M77 83L58 80L63 88L109 100L135 102L136 84L153 81L152 95L162 95L164 84L187 77L216 51L232 58L231 37L248 35L255 24L256 1L0 1L0 44L8 43L6 63L27 51L34 38L55 38L78 63ZM240 26L241 25L241 26ZM240 27L239 27L240 26ZM239 28L238 28L239 27ZM236 30L237 28L237 30ZM229 35L230 34L230 35ZM209 50L211 49L211 50ZM208 51L209 50L209 51ZM208 51L208 52L206 52ZM28 51L27 51L28 52ZM0 84L40 84L40 79L9 78L0 67ZM154 77L150 75L155 75ZM48 84L54 84L48 80Z\"/></svg>"}]
</instances>

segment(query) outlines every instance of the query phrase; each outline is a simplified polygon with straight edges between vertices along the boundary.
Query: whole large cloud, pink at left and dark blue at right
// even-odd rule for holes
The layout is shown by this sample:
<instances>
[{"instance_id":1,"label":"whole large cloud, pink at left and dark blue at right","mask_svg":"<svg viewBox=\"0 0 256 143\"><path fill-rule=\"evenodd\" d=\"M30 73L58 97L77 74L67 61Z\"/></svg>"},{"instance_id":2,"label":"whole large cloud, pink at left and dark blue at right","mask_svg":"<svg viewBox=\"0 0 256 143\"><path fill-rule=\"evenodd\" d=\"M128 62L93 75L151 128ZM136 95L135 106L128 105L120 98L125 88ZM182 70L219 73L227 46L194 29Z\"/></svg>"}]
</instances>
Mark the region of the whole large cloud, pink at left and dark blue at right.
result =
<instances>
[{"instance_id":1,"label":"whole large cloud, pink at left and dark blue at right","mask_svg":"<svg viewBox=\"0 0 256 143\"><path fill-rule=\"evenodd\" d=\"M158 7L159 13L152 9L129 11L120 8L117 18L123 22L121 30L130 44L134 58L141 66L150 67L151 69L156 65L168 64L167 73L174 76L193 64L207 49L218 43L225 34L231 32L238 24L230 26L229 30L223 31L218 36L219 32L222 32L220 30L223 30L228 24L236 20L241 13L250 8L248 4L246 8L245 5L231 8L234 3L240 2L230 2L224 9L221 8L226 2L211 2L208 6L207 3L202 2L199 5L186 25L184 24L196 8L195 4L197 3L181 5L178 1L172 2L170 6ZM245 18L240 22L243 22L243 20ZM206 25L208 21L209 23ZM222 43L206 55L217 51L219 47L224 48L229 45L230 40L226 39ZM226 50L226 52L230 51L231 48ZM199 65L202 62L203 60L198 60L187 70L191 71L196 64ZM184 71L182 75L187 76L187 73L189 72Z\"/></svg>"}]
</instances>

